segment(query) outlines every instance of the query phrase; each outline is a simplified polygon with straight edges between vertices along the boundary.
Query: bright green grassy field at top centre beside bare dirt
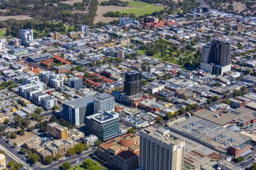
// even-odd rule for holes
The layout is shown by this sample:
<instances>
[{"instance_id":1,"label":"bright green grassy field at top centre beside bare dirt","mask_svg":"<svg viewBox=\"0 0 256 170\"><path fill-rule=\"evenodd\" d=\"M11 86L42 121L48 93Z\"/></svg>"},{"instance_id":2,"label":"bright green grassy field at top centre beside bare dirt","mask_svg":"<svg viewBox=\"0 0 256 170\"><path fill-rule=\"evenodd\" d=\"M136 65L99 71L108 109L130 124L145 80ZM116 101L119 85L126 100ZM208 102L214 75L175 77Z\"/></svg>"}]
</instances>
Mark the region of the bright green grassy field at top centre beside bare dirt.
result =
<instances>
[{"instance_id":1,"label":"bright green grassy field at top centre beside bare dirt","mask_svg":"<svg viewBox=\"0 0 256 170\"><path fill-rule=\"evenodd\" d=\"M151 14L155 11L160 11L164 7L163 6L155 6L154 4L145 3L141 1L127 1L129 2L128 6L132 7L126 10L120 11L121 13L134 13L136 16Z\"/></svg>"}]
</instances>

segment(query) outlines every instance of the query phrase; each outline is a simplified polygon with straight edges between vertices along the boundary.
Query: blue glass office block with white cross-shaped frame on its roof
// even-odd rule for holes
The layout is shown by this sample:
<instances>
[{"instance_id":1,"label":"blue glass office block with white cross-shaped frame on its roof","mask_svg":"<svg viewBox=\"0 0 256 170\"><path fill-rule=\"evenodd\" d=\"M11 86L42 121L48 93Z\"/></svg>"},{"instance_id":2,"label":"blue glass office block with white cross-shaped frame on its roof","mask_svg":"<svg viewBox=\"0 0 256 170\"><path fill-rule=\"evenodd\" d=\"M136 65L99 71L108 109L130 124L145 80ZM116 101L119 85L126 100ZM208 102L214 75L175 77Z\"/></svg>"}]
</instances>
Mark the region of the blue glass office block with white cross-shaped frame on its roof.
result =
<instances>
[{"instance_id":1,"label":"blue glass office block with white cross-shaped frame on its roof","mask_svg":"<svg viewBox=\"0 0 256 170\"><path fill-rule=\"evenodd\" d=\"M117 137L119 129L119 114L115 112L96 113L85 117L85 128L97 135L101 141Z\"/></svg>"}]
</instances>

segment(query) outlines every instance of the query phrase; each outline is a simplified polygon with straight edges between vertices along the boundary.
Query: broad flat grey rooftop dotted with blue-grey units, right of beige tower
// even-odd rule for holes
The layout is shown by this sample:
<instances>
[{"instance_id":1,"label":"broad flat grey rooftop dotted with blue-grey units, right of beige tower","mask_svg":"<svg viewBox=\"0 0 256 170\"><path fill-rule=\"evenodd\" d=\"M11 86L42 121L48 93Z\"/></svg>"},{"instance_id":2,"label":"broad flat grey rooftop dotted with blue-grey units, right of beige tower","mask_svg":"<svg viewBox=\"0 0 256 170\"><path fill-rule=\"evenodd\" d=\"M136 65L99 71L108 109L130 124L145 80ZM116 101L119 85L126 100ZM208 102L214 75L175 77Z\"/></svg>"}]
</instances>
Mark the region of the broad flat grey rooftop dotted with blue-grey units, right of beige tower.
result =
<instances>
[{"instance_id":1,"label":"broad flat grey rooftop dotted with blue-grey units, right of beige tower","mask_svg":"<svg viewBox=\"0 0 256 170\"><path fill-rule=\"evenodd\" d=\"M241 146L250 140L249 137L235 131L223 128L199 117L188 118L170 126L175 133L196 139L216 148L220 152L226 152L230 145Z\"/></svg>"}]
</instances>

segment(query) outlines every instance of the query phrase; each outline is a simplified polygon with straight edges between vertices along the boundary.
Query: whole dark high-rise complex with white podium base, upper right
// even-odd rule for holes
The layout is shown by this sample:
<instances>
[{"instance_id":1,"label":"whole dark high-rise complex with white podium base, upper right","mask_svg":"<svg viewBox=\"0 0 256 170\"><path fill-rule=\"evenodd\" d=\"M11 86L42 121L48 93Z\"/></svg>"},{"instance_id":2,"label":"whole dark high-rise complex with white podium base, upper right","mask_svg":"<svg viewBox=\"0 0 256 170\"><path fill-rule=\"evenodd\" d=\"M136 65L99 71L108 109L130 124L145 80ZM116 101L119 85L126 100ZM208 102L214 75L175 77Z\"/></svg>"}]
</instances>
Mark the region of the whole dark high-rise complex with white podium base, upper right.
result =
<instances>
[{"instance_id":1,"label":"whole dark high-rise complex with white podium base, upper right","mask_svg":"<svg viewBox=\"0 0 256 170\"><path fill-rule=\"evenodd\" d=\"M210 44L203 48L203 61L200 68L211 74L222 76L226 71L231 70L230 48L229 40L213 38Z\"/></svg>"}]
</instances>

